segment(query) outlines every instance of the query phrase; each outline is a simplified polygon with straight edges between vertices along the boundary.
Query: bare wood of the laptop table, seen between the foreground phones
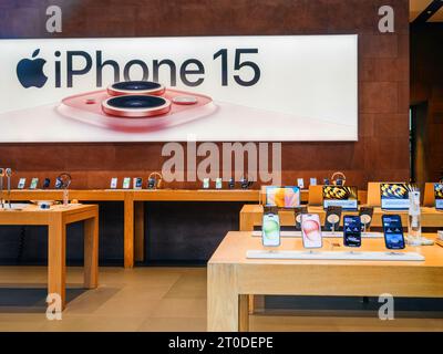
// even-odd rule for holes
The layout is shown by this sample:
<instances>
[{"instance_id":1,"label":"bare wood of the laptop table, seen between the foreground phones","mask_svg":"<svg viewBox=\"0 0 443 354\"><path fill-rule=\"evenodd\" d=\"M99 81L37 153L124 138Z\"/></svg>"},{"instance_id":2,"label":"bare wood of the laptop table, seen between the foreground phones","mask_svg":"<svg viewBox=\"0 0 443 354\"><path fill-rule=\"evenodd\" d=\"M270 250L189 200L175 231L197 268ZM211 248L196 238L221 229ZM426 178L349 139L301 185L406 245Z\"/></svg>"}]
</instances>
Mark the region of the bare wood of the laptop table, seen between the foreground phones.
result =
<instances>
[{"instance_id":1,"label":"bare wood of the laptop table, seen between the foreground phones","mask_svg":"<svg viewBox=\"0 0 443 354\"><path fill-rule=\"evenodd\" d=\"M422 227L440 228L443 227L443 211L437 211L435 208L422 207ZM311 214L318 214L320 221L324 223L326 211L322 207L308 207ZM255 226L260 226L262 222L264 207L261 205L245 205L240 211L240 231L251 231ZM404 227L408 226L408 211L384 211L375 207L372 216L371 227L382 227L381 216L383 214L399 214ZM343 215L358 215L358 211L342 211ZM280 225L295 225L295 215L292 210L279 210ZM342 223L341 219L341 223Z\"/></svg>"}]
</instances>

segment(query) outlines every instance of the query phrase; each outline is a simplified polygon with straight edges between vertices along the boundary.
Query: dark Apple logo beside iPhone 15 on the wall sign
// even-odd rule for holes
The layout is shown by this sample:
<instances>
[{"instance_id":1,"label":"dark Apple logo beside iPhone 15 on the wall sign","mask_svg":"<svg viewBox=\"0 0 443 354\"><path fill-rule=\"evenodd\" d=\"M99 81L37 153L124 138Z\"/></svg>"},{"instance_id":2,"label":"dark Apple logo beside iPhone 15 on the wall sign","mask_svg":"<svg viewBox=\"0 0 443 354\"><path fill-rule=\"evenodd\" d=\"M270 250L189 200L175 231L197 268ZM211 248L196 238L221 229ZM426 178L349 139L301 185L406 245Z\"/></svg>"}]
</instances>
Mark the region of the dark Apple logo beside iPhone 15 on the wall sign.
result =
<instances>
[{"instance_id":1,"label":"dark Apple logo beside iPhone 15 on the wall sign","mask_svg":"<svg viewBox=\"0 0 443 354\"><path fill-rule=\"evenodd\" d=\"M32 53L33 60L22 59L17 64L17 77L24 88L34 86L42 87L47 83L47 75L43 73L43 66L47 63L44 59L34 59L39 55L40 49Z\"/></svg>"}]
</instances>

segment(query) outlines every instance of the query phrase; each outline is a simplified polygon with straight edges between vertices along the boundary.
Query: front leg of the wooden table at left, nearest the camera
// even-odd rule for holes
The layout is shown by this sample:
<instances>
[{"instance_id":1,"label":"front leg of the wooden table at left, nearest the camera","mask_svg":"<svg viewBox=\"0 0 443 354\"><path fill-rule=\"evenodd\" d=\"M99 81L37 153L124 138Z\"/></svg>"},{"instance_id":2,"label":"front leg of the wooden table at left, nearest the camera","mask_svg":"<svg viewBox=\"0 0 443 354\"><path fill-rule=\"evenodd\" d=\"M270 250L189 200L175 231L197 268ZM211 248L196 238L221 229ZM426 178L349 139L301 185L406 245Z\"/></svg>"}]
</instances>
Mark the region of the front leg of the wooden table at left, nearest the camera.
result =
<instances>
[{"instance_id":1,"label":"front leg of the wooden table at left, nearest the camera","mask_svg":"<svg viewBox=\"0 0 443 354\"><path fill-rule=\"evenodd\" d=\"M66 304L66 226L61 215L51 217L48 225L48 293L60 295Z\"/></svg>"}]
</instances>

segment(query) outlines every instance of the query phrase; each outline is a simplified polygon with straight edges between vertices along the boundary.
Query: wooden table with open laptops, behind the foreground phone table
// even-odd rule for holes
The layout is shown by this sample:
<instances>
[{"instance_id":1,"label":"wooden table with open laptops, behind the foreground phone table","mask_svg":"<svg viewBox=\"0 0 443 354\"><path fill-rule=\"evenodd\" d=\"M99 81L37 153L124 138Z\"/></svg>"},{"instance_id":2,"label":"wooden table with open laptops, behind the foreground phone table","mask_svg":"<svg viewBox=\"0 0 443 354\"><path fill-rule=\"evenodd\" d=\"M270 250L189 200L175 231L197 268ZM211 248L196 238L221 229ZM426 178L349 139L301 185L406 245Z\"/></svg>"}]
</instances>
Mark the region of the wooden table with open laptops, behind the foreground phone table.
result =
<instances>
[{"instance_id":1,"label":"wooden table with open laptops, behind the foreground phone table","mask_svg":"<svg viewBox=\"0 0 443 354\"><path fill-rule=\"evenodd\" d=\"M410 226L420 221L424 228L442 228L443 184L425 185L423 204L420 204L420 191L406 183L369 183L368 192L359 192L356 187L344 185L310 186L308 204L302 205L297 187L261 188L260 204L247 205L240 212L240 230L258 230L266 209L274 208L280 218L282 232L300 232L302 214L318 215L323 231L340 231L343 216L360 216L364 226L363 232L383 226L383 215L399 215L403 225ZM414 196L414 208L411 211L411 196ZM363 201L363 200L364 201ZM363 202L362 202L363 201ZM364 221L364 222L363 222ZM432 230L435 231L435 230Z\"/></svg>"}]
</instances>

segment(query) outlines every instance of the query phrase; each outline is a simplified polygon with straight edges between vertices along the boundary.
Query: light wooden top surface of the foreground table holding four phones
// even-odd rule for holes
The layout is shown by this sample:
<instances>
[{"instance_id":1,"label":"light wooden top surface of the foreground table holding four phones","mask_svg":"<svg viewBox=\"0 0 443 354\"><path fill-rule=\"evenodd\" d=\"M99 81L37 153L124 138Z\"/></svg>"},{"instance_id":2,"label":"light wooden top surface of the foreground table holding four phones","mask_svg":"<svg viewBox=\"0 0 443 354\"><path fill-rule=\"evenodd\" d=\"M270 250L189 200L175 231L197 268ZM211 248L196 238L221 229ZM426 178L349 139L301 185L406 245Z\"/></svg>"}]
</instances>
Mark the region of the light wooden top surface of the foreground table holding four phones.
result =
<instances>
[{"instance_id":1,"label":"light wooden top surface of the foreground table holding four phones","mask_svg":"<svg viewBox=\"0 0 443 354\"><path fill-rule=\"evenodd\" d=\"M358 267L441 267L443 270L443 248L434 246L410 247L406 246L403 252L416 252L425 257L424 261L361 261L361 260L278 260L278 259L247 259L248 250L264 250L261 238L253 237L251 231L230 231L222 241L209 260L209 264L316 264L316 266L358 266ZM435 239L436 233L423 233L426 238ZM269 248L268 248L269 249ZM281 244L277 250L303 250L301 238L281 238ZM341 238L323 239L323 248L319 251L347 251L350 248L343 247ZM383 239L363 239L358 251L389 251Z\"/></svg>"}]
</instances>

